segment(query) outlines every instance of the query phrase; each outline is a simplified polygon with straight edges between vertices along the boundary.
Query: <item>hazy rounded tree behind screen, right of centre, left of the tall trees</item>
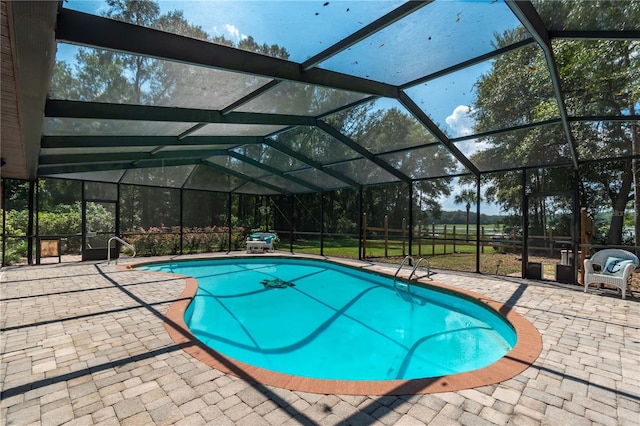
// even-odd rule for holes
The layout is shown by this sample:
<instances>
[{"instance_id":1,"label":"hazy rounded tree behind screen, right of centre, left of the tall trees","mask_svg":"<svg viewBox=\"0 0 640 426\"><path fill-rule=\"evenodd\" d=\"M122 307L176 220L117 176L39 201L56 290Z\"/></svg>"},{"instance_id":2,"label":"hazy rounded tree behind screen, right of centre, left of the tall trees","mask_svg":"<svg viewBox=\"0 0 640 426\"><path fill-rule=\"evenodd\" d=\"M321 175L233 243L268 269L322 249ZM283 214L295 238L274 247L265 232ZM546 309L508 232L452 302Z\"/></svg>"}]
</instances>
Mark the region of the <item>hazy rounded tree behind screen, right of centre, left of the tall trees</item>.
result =
<instances>
[{"instance_id":1,"label":"hazy rounded tree behind screen, right of centre, left of the tall trees","mask_svg":"<svg viewBox=\"0 0 640 426\"><path fill-rule=\"evenodd\" d=\"M425 127L411 115L398 108L376 109L374 103L361 104L325 120L374 154L389 151L394 147L423 145L431 140ZM455 170L455 161L451 154L439 145L429 149L428 154L398 151L384 155L384 161L411 178L424 177L421 173L433 176L450 175ZM353 151L346 150L345 155L347 152L353 156ZM386 172L377 166L363 167L362 162L352 161L343 167L341 171L348 176L356 176L356 180L361 182L379 182L381 174L383 178L387 178L384 176ZM413 215L416 221L438 219L441 215L438 200L441 196L451 193L451 179L415 182L413 206L409 206L409 190L405 184L367 187L364 202L368 210L368 222L381 224L384 216L388 215L390 226L399 228L402 218L408 216L407 208L416 212Z\"/></svg>"}]
</instances>

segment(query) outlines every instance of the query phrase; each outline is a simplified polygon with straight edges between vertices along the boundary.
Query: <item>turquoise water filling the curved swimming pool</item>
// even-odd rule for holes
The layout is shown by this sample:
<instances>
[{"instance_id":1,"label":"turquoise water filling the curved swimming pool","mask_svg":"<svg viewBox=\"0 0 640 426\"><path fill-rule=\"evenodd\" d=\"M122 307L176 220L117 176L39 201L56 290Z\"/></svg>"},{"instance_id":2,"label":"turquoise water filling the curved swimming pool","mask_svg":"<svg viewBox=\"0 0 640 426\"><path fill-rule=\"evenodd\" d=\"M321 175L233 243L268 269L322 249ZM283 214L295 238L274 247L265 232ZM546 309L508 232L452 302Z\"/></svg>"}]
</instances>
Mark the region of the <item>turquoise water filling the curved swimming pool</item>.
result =
<instances>
[{"instance_id":1,"label":"turquoise water filling the curved swimming pool","mask_svg":"<svg viewBox=\"0 0 640 426\"><path fill-rule=\"evenodd\" d=\"M438 377L485 367L515 331L479 303L333 263L289 258L144 267L197 279L185 313L216 351L272 371L342 380Z\"/></svg>"}]
</instances>

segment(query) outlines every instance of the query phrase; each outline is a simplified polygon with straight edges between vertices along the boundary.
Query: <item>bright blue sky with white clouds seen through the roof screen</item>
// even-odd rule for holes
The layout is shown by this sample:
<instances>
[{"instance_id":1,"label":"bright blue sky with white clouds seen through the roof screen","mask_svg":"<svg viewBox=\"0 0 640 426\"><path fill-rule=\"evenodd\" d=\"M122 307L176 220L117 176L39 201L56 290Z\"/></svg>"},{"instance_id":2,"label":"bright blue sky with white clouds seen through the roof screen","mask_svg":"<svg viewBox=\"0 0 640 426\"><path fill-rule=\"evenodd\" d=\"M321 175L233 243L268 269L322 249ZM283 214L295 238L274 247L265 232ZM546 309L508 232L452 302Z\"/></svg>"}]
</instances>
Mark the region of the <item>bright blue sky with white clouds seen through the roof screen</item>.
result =
<instances>
[{"instance_id":1,"label":"bright blue sky with white clouds seen through the roof screen","mask_svg":"<svg viewBox=\"0 0 640 426\"><path fill-rule=\"evenodd\" d=\"M190 23L201 26L211 36L224 36L236 43L252 36L259 44L285 46L291 54L291 60L302 62L388 13L404 1L172 0L158 3L162 14L182 10ZM64 7L97 15L101 15L107 8L103 1L85 0L67 0ZM427 18L430 25L424 25ZM390 66L388 63L385 64L385 47L395 49L395 53L398 53L399 49L407 49L407 52L410 52L409 49L419 49L416 46L423 45L422 49L427 50L419 51L419 55L414 55L415 59L408 60L400 67L408 69L409 77L411 68L417 70L415 72L422 72L422 69L429 66L442 66L431 64L433 58L438 58L438 61L444 58L442 60L453 64L460 62L461 58L467 59L492 50L493 47L489 44L493 40L493 31L499 32L513 27L515 17L502 0L465 0L437 1L422 8L419 14L411 19L394 24L394 31L401 34L402 37L399 39L416 39L415 46L407 46L404 42L393 44L395 41L385 35L393 35L395 32L384 29L376 35L382 40L375 39L375 43L379 43L376 46L378 49L368 48L363 41L319 66L323 67L326 64L346 67L348 69L345 68L345 71L358 75L357 73L362 71L355 65L356 62L361 62L370 69L378 64L380 67ZM470 33L473 33L474 37L469 37ZM365 39L367 40L369 39ZM422 42L418 43L418 40ZM438 56L431 57L428 49L433 48L438 49ZM58 58L72 62L73 52L74 48L60 46ZM371 57L370 52L374 52L376 56ZM475 97L474 82L490 70L490 67L490 62L478 64L428 83L418 84L408 88L406 92L448 136L468 136L475 128L471 116L471 105ZM383 71L380 72L384 75ZM397 107L395 101L379 102L382 108L385 108L385 104ZM469 155L473 152L472 149L478 149L478 144L471 140L462 142L459 147ZM450 200L442 202L445 210L464 208ZM494 214L490 211L487 213Z\"/></svg>"}]
</instances>

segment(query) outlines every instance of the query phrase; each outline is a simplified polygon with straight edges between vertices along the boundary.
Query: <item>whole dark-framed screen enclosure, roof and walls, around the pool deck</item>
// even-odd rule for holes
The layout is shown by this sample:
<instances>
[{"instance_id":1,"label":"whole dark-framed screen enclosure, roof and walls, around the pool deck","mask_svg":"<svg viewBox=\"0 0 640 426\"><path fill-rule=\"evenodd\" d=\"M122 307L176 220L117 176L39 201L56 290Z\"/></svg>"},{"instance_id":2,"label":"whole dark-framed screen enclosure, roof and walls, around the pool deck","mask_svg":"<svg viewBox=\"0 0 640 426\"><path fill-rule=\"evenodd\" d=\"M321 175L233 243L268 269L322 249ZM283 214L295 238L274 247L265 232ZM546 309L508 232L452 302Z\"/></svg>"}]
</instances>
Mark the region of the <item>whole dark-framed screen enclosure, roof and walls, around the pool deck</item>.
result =
<instances>
[{"instance_id":1,"label":"whole dark-framed screen enclosure, roof and walls, around the pool deck","mask_svg":"<svg viewBox=\"0 0 640 426\"><path fill-rule=\"evenodd\" d=\"M3 265L640 245L640 1L1 4Z\"/></svg>"}]
</instances>

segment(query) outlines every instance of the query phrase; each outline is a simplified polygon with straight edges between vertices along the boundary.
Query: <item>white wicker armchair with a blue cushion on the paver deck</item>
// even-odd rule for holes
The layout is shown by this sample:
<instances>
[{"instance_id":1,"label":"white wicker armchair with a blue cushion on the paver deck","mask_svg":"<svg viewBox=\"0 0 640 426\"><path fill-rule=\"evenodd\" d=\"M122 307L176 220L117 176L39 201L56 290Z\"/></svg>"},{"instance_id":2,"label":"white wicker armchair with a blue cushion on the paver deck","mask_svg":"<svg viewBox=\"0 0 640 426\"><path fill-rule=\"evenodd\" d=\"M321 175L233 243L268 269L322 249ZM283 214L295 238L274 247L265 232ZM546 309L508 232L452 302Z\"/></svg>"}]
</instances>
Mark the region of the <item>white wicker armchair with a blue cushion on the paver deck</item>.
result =
<instances>
[{"instance_id":1,"label":"white wicker armchair with a blue cushion on the paver deck","mask_svg":"<svg viewBox=\"0 0 640 426\"><path fill-rule=\"evenodd\" d=\"M596 252L584 260L584 292L587 292L589 284L610 284L622 291L624 299L629 277L639 264L638 256L626 250L605 249ZM596 271L594 265L599 265L600 269Z\"/></svg>"}]
</instances>

